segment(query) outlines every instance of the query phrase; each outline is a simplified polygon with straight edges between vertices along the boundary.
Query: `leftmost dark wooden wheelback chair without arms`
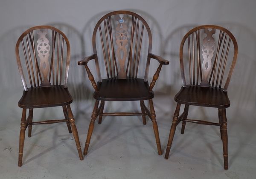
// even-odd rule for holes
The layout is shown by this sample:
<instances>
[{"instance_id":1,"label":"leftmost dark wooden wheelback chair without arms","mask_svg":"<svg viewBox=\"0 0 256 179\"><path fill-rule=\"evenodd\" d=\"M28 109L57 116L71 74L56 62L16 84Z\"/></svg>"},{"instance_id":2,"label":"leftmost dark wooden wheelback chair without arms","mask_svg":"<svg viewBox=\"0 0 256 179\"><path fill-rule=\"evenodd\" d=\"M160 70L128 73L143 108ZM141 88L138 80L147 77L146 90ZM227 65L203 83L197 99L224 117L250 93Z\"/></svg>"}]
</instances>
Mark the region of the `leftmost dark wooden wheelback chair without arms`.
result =
<instances>
[{"instance_id":1,"label":"leftmost dark wooden wheelback chair without arms","mask_svg":"<svg viewBox=\"0 0 256 179\"><path fill-rule=\"evenodd\" d=\"M28 136L31 137L34 124L66 122L69 133L73 132L80 160L83 160L75 119L70 108L72 96L67 89L70 43L66 35L52 26L35 26L20 36L15 52L24 87L23 96L18 102L22 108L18 166L22 165L25 130L29 128ZM32 122L34 108L55 106L62 106L65 119Z\"/></svg>"}]
</instances>

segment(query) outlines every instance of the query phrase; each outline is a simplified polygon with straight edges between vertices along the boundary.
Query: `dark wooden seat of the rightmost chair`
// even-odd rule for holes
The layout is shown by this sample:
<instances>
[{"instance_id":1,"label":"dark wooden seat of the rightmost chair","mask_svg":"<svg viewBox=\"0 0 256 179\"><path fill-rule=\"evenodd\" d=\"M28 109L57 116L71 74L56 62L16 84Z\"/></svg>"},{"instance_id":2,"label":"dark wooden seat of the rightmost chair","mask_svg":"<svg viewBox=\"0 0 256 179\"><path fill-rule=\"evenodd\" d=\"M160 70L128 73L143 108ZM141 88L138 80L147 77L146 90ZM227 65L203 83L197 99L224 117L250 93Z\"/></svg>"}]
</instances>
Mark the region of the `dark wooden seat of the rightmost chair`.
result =
<instances>
[{"instance_id":1,"label":"dark wooden seat of the rightmost chair","mask_svg":"<svg viewBox=\"0 0 256 179\"><path fill-rule=\"evenodd\" d=\"M175 95L175 101L180 104L205 106L205 107L229 107L230 101L227 92L220 88L208 88L187 85L181 87ZM186 101L186 103L184 102Z\"/></svg>"}]
</instances>

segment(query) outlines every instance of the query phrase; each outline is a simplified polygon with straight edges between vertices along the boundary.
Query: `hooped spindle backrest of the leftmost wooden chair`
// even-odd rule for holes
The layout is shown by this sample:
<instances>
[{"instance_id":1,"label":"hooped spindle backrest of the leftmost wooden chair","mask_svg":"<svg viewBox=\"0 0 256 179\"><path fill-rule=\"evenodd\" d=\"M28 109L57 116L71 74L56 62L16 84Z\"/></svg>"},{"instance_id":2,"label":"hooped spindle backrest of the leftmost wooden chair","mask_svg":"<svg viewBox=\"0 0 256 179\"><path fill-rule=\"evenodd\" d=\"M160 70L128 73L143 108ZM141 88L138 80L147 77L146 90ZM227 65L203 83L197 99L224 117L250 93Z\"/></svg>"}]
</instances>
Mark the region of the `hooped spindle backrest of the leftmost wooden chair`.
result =
<instances>
[{"instance_id":1,"label":"hooped spindle backrest of the leftmost wooden chair","mask_svg":"<svg viewBox=\"0 0 256 179\"><path fill-rule=\"evenodd\" d=\"M25 91L28 85L67 87L70 43L60 30L52 26L35 26L26 30L17 40L15 53Z\"/></svg>"}]
</instances>

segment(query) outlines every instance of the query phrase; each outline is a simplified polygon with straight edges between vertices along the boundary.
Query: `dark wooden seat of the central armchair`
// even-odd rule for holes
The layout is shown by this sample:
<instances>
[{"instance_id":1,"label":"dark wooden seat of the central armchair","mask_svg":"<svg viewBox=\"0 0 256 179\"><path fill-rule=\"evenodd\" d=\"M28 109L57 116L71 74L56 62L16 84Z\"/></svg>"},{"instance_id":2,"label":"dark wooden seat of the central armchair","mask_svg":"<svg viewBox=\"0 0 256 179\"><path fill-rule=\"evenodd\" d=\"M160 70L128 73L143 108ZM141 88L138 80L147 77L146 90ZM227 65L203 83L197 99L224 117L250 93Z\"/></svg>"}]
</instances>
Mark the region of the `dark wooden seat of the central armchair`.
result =
<instances>
[{"instance_id":1,"label":"dark wooden seat of the central armchair","mask_svg":"<svg viewBox=\"0 0 256 179\"><path fill-rule=\"evenodd\" d=\"M98 82L99 91L93 97L103 101L139 101L152 99L153 91L148 91L148 81L144 79L104 79Z\"/></svg>"}]
</instances>

